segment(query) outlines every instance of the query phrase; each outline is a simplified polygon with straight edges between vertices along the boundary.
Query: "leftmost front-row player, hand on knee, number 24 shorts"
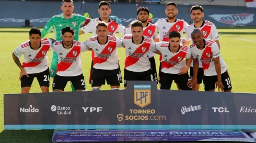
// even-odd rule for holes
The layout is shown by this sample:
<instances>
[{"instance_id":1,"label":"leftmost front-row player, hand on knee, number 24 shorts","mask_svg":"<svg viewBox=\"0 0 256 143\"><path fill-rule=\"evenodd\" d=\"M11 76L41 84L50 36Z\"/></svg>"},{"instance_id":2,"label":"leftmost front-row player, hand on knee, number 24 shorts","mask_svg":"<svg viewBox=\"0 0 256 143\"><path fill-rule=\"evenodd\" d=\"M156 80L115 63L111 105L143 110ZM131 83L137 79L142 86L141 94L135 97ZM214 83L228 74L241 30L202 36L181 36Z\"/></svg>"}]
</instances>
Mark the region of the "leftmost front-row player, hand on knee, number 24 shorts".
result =
<instances>
[{"instance_id":1,"label":"leftmost front-row player, hand on knee, number 24 shorts","mask_svg":"<svg viewBox=\"0 0 256 143\"><path fill-rule=\"evenodd\" d=\"M42 39L41 30L32 28L29 41L21 43L13 51L13 59L20 68L21 93L29 93L34 77L37 77L42 93L49 92L50 72L46 53L53 42L53 39ZM21 55L24 55L22 65L19 60Z\"/></svg>"}]
</instances>

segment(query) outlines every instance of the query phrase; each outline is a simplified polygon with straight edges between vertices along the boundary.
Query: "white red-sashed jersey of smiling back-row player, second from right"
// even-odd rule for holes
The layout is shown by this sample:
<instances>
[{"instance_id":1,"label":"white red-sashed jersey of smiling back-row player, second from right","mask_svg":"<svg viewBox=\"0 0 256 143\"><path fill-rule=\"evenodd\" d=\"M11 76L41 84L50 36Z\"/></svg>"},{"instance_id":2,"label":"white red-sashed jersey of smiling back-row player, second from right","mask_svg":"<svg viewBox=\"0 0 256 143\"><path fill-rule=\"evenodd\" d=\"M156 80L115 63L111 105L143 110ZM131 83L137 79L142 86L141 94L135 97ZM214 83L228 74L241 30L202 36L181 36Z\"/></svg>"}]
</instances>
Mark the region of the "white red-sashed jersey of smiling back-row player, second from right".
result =
<instances>
[{"instance_id":1,"label":"white red-sashed jersey of smiling back-row player, second from right","mask_svg":"<svg viewBox=\"0 0 256 143\"><path fill-rule=\"evenodd\" d=\"M169 41L169 33L171 31L179 31L180 32L180 39L182 43L182 35L183 31L187 29L188 23L184 21L183 19L176 19L174 22L170 23L168 22L167 18L159 19L156 23L157 29L159 32L159 40L160 41ZM160 61L162 59L162 56L160 55Z\"/></svg>"}]
</instances>

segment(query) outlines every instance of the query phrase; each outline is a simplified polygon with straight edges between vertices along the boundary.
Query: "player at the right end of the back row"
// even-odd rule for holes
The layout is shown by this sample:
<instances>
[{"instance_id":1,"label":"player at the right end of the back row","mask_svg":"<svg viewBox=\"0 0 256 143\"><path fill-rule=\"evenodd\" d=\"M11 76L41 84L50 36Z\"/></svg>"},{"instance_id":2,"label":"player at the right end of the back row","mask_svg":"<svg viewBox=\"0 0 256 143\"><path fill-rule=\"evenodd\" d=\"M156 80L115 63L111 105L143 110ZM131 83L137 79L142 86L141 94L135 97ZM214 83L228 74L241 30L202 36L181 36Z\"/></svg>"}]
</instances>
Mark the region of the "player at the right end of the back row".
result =
<instances>
[{"instance_id":1,"label":"player at the right end of the back row","mask_svg":"<svg viewBox=\"0 0 256 143\"><path fill-rule=\"evenodd\" d=\"M215 41L218 44L218 47L220 48L219 34L215 25L210 21L202 20L202 18L204 17L203 7L198 5L192 6L190 11L191 11L190 16L194 21L194 23L189 25L189 27L186 30L184 45L189 45L191 41L191 33L194 29L197 28L197 29L200 29L201 32L203 33L203 38L207 38ZM193 61L191 63L191 68L190 68L190 79L192 79L192 77L193 77ZM199 61L199 69L197 73L197 84L195 84L192 87L192 90L198 91L202 81L203 81L203 67L202 67L202 62Z\"/></svg>"}]
</instances>

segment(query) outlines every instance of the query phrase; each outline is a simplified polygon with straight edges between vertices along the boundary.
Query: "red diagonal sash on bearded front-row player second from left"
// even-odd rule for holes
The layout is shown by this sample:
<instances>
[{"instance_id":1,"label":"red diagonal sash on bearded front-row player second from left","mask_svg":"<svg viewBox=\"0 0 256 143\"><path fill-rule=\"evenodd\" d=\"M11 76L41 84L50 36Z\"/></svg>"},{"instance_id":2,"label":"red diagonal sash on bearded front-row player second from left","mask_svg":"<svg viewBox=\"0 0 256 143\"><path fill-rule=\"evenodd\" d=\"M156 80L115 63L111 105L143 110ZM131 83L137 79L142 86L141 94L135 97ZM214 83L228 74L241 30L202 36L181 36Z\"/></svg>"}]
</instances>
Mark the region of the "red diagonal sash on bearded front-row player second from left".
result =
<instances>
[{"instance_id":1,"label":"red diagonal sash on bearded front-row player second from left","mask_svg":"<svg viewBox=\"0 0 256 143\"><path fill-rule=\"evenodd\" d=\"M77 56L80 54L81 47L80 46L74 46L67 54L66 58L77 58ZM61 61L57 65L57 72L65 71L67 70L73 62L63 62Z\"/></svg>"}]
</instances>

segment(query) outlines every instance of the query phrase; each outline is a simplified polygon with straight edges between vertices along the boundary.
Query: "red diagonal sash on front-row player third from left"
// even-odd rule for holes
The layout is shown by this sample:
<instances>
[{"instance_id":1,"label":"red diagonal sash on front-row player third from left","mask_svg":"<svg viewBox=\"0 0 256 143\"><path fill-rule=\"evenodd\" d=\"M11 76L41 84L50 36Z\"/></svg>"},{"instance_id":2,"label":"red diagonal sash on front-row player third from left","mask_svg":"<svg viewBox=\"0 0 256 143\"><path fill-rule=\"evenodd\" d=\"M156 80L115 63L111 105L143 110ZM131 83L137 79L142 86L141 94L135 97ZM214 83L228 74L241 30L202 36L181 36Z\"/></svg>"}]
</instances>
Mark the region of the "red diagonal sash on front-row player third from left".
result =
<instances>
[{"instance_id":1,"label":"red diagonal sash on front-row player third from left","mask_svg":"<svg viewBox=\"0 0 256 143\"><path fill-rule=\"evenodd\" d=\"M112 42L112 41L110 41L109 43L108 43L108 45L106 46L106 47L104 47L104 49L101 51L101 53L100 53L100 55L101 54L111 54L114 50L115 50L115 47L117 47L117 42ZM108 59L101 59L101 58L99 58L99 57L95 57L94 58L94 65L96 64L96 63L103 63L103 62L105 62L105 61L107 61Z\"/></svg>"}]
</instances>

